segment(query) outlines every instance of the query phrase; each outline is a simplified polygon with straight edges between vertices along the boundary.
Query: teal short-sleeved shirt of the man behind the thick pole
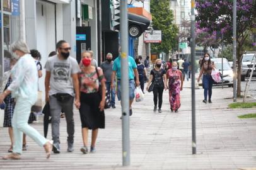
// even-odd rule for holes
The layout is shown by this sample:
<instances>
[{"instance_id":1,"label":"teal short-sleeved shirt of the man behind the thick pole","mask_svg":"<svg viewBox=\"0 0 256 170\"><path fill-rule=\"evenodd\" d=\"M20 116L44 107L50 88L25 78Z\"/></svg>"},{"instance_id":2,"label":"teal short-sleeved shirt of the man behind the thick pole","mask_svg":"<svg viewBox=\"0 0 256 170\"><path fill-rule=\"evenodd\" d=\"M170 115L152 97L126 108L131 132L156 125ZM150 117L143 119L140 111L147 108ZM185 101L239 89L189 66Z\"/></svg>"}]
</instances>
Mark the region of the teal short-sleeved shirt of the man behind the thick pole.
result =
<instances>
[{"instance_id":1,"label":"teal short-sleeved shirt of the man behind the thick pole","mask_svg":"<svg viewBox=\"0 0 256 170\"><path fill-rule=\"evenodd\" d=\"M134 79L133 69L137 69L137 65L135 63L135 60L131 56L128 56L129 79ZM113 61L113 71L117 72L117 79L121 79L121 57L120 56Z\"/></svg>"}]
</instances>

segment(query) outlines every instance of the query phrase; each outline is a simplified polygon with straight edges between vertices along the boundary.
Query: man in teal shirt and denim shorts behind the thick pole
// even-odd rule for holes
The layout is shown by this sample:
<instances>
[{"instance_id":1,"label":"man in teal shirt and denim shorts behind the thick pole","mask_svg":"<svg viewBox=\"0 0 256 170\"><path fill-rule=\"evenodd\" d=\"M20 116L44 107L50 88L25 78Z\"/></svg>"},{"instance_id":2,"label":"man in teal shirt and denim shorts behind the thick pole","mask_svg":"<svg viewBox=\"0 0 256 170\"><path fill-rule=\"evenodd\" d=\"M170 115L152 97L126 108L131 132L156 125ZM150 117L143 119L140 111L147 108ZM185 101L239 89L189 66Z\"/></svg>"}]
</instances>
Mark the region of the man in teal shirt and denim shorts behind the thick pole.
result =
<instances>
[{"instance_id":1,"label":"man in teal shirt and denim shorts behind the thick pole","mask_svg":"<svg viewBox=\"0 0 256 170\"><path fill-rule=\"evenodd\" d=\"M120 49L119 49L120 52ZM129 115L132 115L132 103L135 98L135 84L136 86L139 86L139 74L137 71L137 65L134 61L134 59L131 56L127 56L128 58L128 78L129 78L129 106L130 106L130 111ZM121 100L121 57L117 57L113 61L113 72L111 76L111 89L114 88L114 80L115 76L117 76L117 98L119 101ZM136 77L136 82L134 82L134 76ZM122 118L122 117L121 117Z\"/></svg>"}]
</instances>

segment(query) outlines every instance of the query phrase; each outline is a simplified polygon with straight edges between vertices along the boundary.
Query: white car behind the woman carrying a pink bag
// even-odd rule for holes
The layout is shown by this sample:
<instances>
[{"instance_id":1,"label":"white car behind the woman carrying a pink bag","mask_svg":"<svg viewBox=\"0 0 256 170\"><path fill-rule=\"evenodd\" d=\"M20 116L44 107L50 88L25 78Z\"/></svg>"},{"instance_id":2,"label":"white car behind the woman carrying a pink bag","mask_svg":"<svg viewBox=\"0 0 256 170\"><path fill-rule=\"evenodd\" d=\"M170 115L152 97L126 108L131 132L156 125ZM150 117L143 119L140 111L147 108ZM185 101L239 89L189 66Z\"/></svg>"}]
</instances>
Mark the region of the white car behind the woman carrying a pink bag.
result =
<instances>
[{"instance_id":1,"label":"white car behind the woman carrying a pink bag","mask_svg":"<svg viewBox=\"0 0 256 170\"><path fill-rule=\"evenodd\" d=\"M223 71L223 85L228 85L228 87L233 87L233 70L230 67L230 64L226 58L223 58L223 68L222 68L222 59L221 58L215 58L211 59L211 61L214 62L214 65L216 69L219 70L219 72ZM221 85L222 82L214 82L214 85Z\"/></svg>"}]
</instances>

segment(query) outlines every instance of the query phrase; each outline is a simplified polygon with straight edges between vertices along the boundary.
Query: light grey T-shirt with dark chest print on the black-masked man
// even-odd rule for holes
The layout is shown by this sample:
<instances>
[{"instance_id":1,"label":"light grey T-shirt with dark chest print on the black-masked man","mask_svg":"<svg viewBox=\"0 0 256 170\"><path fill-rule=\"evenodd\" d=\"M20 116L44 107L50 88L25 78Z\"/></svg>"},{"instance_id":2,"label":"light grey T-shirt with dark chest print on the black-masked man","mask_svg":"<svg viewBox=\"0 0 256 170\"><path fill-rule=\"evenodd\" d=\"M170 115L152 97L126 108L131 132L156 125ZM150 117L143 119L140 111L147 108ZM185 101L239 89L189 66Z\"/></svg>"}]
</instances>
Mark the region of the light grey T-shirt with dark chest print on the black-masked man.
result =
<instances>
[{"instance_id":1,"label":"light grey T-shirt with dark chest print on the black-masked man","mask_svg":"<svg viewBox=\"0 0 256 170\"><path fill-rule=\"evenodd\" d=\"M80 72L76 59L69 56L66 60L60 60L54 55L47 60L45 70L50 72L50 96L57 93L74 96L72 75Z\"/></svg>"}]
</instances>

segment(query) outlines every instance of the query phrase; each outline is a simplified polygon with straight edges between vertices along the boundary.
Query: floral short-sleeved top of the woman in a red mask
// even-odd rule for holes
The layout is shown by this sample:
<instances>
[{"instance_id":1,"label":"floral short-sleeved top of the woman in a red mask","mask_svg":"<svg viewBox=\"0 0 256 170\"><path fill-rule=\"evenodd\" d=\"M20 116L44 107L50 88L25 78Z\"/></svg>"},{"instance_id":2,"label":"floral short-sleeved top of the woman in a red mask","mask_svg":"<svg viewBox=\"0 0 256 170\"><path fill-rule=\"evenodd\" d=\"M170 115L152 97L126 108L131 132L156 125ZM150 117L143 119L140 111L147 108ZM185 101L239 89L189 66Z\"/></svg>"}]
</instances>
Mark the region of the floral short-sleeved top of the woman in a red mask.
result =
<instances>
[{"instance_id":1,"label":"floral short-sleeved top of the woman in a red mask","mask_svg":"<svg viewBox=\"0 0 256 170\"><path fill-rule=\"evenodd\" d=\"M104 80L103 71L100 67L98 69L98 74L95 71L85 74L81 72L79 74L79 82L80 82L80 91L83 93L96 93L98 88L100 87L100 81Z\"/></svg>"}]
</instances>

